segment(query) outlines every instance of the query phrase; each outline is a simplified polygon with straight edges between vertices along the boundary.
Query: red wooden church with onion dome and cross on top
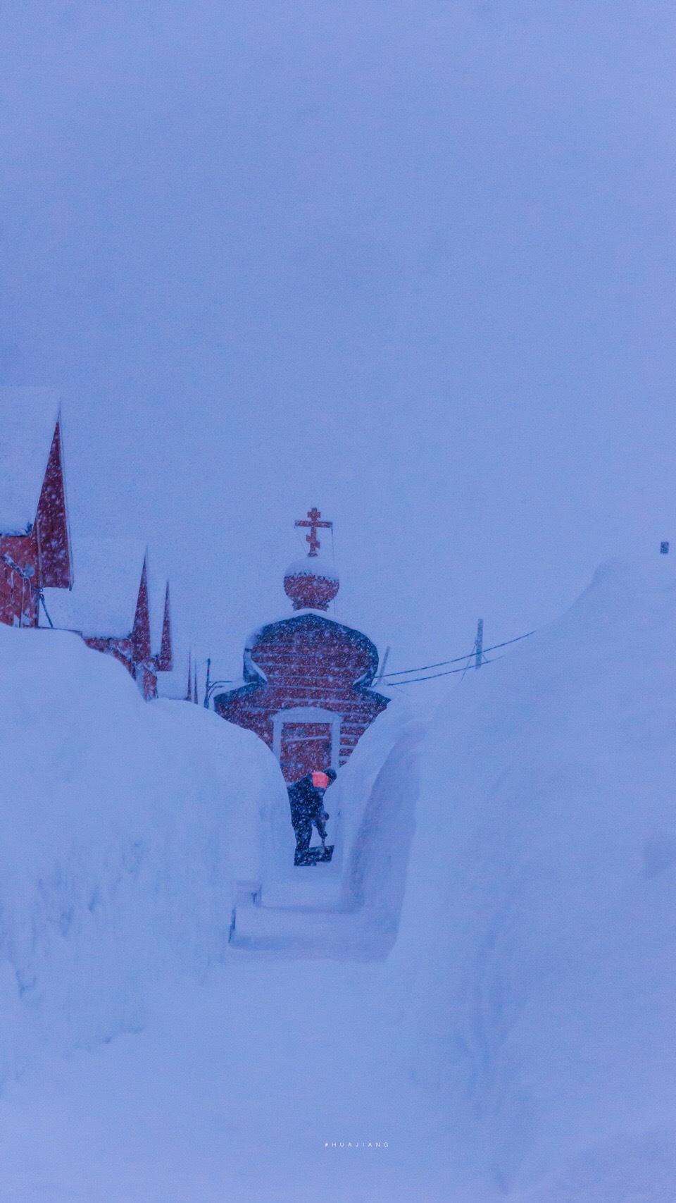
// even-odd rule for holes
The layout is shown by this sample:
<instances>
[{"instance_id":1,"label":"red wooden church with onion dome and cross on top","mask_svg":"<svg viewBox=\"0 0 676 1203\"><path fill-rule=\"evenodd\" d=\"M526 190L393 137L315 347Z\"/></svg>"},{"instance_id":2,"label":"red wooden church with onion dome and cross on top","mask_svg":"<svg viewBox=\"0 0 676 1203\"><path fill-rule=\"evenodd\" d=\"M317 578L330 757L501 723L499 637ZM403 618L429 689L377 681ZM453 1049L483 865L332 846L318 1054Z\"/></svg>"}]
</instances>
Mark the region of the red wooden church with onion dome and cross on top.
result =
<instances>
[{"instance_id":1,"label":"red wooden church with onion dome and cross on top","mask_svg":"<svg viewBox=\"0 0 676 1203\"><path fill-rule=\"evenodd\" d=\"M306 559L291 564L284 591L297 614L255 632L244 650L243 685L219 694L214 709L255 731L278 758L290 784L315 769L339 769L389 698L372 689L378 650L360 630L327 615L338 593L336 570L318 556L318 509Z\"/></svg>"}]
</instances>

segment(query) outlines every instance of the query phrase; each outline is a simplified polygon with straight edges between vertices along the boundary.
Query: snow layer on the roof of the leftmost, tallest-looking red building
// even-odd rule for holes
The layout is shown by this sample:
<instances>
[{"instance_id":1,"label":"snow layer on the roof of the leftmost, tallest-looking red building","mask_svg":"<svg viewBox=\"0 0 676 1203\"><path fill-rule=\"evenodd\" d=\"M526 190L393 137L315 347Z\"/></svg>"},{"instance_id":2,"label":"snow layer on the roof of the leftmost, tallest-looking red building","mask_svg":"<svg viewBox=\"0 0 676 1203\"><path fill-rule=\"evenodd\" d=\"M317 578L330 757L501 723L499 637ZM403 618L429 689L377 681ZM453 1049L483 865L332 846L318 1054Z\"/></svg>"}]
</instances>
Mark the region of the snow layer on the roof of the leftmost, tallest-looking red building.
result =
<instances>
[{"instance_id":1,"label":"snow layer on the roof of the leftmost, tallest-looking red building","mask_svg":"<svg viewBox=\"0 0 676 1203\"><path fill-rule=\"evenodd\" d=\"M0 389L0 533L35 522L60 396L54 389Z\"/></svg>"}]
</instances>

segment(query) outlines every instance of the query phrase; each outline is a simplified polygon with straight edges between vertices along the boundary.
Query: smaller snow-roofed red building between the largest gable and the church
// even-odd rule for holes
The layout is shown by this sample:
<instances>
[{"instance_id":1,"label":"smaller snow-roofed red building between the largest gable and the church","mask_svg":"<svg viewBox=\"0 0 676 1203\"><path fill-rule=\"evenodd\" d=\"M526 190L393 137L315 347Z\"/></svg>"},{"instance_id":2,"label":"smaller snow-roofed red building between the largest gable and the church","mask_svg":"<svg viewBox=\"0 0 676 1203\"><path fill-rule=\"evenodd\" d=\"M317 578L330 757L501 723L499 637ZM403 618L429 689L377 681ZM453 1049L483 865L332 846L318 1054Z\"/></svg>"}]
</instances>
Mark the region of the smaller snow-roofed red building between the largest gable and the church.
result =
<instances>
[{"instance_id":1,"label":"smaller snow-roofed red building between the largest gable and the church","mask_svg":"<svg viewBox=\"0 0 676 1203\"><path fill-rule=\"evenodd\" d=\"M70 593L45 591L42 626L77 632L88 647L114 656L146 699L158 697L158 672L173 666L168 582L148 570L148 550L134 539L76 539Z\"/></svg>"}]
</instances>

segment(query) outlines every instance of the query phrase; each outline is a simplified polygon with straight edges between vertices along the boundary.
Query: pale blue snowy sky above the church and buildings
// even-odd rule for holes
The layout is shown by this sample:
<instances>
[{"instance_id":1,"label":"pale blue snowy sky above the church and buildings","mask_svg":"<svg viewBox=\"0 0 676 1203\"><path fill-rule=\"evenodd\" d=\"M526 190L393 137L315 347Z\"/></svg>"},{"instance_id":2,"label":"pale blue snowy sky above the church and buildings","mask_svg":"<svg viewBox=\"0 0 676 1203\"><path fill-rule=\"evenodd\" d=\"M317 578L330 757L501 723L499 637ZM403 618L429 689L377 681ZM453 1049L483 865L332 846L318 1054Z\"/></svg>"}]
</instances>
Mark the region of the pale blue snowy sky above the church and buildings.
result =
<instances>
[{"instance_id":1,"label":"pale blue snowy sky above the church and buildings","mask_svg":"<svg viewBox=\"0 0 676 1203\"><path fill-rule=\"evenodd\" d=\"M238 671L310 505L390 668L676 544L675 31L0 0L0 384L63 390L73 532L149 540L182 654Z\"/></svg>"}]
</instances>

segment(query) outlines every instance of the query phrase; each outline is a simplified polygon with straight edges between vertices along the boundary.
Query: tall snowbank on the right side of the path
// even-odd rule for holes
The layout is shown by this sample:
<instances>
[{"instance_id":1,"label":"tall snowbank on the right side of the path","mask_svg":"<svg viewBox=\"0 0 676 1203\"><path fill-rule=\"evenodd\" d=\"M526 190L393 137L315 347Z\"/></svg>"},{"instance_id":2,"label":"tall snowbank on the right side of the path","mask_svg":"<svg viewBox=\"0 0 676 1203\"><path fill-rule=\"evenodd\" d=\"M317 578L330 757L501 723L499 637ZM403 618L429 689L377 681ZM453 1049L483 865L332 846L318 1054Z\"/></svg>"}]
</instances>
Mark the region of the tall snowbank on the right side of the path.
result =
<instances>
[{"instance_id":1,"label":"tall snowbank on the right side of the path","mask_svg":"<svg viewBox=\"0 0 676 1203\"><path fill-rule=\"evenodd\" d=\"M441 707L390 970L497 1197L676 1190L676 582L601 568ZM393 986L396 989L396 986Z\"/></svg>"}]
</instances>

